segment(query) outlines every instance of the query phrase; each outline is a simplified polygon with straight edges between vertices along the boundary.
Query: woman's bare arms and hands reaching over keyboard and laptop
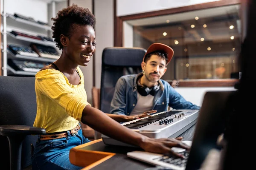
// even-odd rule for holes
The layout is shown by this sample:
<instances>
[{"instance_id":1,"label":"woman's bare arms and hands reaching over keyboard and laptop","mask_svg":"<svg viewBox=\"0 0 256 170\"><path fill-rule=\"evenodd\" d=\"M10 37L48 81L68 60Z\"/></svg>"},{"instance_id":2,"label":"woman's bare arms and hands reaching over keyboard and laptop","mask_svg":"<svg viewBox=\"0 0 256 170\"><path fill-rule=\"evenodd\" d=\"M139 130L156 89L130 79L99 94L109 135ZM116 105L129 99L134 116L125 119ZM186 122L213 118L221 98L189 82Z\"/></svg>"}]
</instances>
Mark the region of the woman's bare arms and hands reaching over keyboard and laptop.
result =
<instances>
[{"instance_id":1,"label":"woman's bare arms and hands reaching over keyboard and laptop","mask_svg":"<svg viewBox=\"0 0 256 170\"><path fill-rule=\"evenodd\" d=\"M154 113L155 111L149 111L148 113ZM108 114L115 119L120 119L120 116L124 115L114 115ZM99 111L96 108L91 107L90 105L85 106L83 110L83 115L81 122L90 126L94 130L105 134L106 136L125 142L128 144L136 145L144 149L145 151L152 153L162 153L162 154L172 154L174 156L183 157L178 153L174 153L171 149L172 147L180 147L187 150L190 150L190 147L183 142L182 138L176 139L153 139L147 136L144 136L138 132L135 132L128 127L120 125L114 119L111 119L111 116L108 116L106 113ZM115 132L115 133L113 133Z\"/></svg>"}]
</instances>

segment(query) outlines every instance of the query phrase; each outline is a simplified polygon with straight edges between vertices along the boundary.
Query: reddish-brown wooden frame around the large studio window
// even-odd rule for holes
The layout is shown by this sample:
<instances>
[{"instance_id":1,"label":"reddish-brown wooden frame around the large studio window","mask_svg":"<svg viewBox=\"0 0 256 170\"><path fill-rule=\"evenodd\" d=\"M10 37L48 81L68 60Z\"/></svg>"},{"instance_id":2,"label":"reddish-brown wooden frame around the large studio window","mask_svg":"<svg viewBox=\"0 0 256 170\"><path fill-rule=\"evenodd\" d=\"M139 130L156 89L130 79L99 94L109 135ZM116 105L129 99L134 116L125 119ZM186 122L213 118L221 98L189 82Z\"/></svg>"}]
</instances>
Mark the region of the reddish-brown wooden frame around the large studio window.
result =
<instances>
[{"instance_id":1,"label":"reddish-brown wooden frame around the large studio window","mask_svg":"<svg viewBox=\"0 0 256 170\"><path fill-rule=\"evenodd\" d=\"M157 17L161 15L176 14L188 11L196 11L207 8L215 8L221 6L237 5L241 4L240 0L219 0L209 3L201 3L191 6L183 6L179 8L169 8L160 11L151 11L140 14L132 14L125 16L116 16L116 0L114 0L114 46L123 46L123 22L127 20L142 19L147 17ZM242 20L243 18L241 18ZM242 30L243 34L243 30ZM194 80L167 80L169 84L173 84L173 81L178 81L174 87L233 87L239 79L194 79Z\"/></svg>"}]
</instances>

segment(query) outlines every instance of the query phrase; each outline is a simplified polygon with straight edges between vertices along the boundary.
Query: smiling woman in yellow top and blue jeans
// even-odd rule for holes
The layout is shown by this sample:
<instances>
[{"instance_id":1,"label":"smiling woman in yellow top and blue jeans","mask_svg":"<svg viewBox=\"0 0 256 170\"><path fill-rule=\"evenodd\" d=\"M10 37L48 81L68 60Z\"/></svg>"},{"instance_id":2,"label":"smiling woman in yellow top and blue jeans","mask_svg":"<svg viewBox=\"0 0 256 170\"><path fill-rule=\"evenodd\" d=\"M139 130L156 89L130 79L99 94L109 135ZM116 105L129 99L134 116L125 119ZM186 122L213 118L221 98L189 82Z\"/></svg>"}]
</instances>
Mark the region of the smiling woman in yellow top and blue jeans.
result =
<instances>
[{"instance_id":1,"label":"smiling woman in yellow top and blue jeans","mask_svg":"<svg viewBox=\"0 0 256 170\"><path fill-rule=\"evenodd\" d=\"M62 49L60 58L36 74L37 115L34 126L47 134L38 137L32 156L33 170L77 170L69 161L72 147L90 142L82 135L79 121L114 139L134 144L154 153L173 153L171 147L188 146L180 139L150 139L118 122L138 117L106 114L91 107L84 90L84 77L79 68L87 66L95 52L96 19L87 8L76 5L58 11L53 20L53 38ZM149 112L154 113L154 111ZM114 132L114 133L113 133Z\"/></svg>"}]
</instances>

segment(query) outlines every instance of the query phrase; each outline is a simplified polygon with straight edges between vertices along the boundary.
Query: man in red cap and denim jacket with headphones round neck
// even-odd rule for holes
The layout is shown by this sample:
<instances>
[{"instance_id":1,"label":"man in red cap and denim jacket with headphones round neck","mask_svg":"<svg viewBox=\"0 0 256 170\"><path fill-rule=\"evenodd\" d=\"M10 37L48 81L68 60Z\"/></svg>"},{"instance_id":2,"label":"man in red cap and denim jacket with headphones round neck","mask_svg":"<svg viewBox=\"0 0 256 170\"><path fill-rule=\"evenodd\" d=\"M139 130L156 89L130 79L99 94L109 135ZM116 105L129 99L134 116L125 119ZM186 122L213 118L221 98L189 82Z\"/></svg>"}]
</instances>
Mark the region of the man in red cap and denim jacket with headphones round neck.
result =
<instances>
[{"instance_id":1,"label":"man in red cap and denim jacket with headphones round neck","mask_svg":"<svg viewBox=\"0 0 256 170\"><path fill-rule=\"evenodd\" d=\"M168 45L154 43L143 57L140 74L119 78L111 101L112 114L136 115L149 110L158 113L173 109L200 109L186 101L172 86L161 79L174 51Z\"/></svg>"}]
</instances>

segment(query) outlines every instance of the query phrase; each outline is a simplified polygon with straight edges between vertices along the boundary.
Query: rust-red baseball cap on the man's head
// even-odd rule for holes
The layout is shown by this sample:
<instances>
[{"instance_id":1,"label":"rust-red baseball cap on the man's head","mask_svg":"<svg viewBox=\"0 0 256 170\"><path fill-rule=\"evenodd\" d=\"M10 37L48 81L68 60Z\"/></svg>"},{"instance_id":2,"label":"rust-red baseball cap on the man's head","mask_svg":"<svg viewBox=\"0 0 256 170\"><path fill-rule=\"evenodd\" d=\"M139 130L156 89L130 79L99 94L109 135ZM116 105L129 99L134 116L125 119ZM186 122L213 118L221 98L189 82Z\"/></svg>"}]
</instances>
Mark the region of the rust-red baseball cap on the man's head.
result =
<instances>
[{"instance_id":1,"label":"rust-red baseball cap on the man's head","mask_svg":"<svg viewBox=\"0 0 256 170\"><path fill-rule=\"evenodd\" d=\"M146 55L148 55L149 53L154 52L154 51L164 51L164 52L166 52L168 54L167 64L171 61L171 59L173 57L173 54L174 54L173 49L171 47L169 47L168 45L161 44L161 43L153 43L148 47L148 50L147 50L146 54L143 57L143 61L144 61Z\"/></svg>"}]
</instances>

